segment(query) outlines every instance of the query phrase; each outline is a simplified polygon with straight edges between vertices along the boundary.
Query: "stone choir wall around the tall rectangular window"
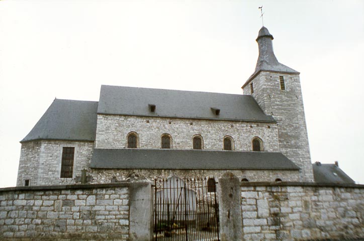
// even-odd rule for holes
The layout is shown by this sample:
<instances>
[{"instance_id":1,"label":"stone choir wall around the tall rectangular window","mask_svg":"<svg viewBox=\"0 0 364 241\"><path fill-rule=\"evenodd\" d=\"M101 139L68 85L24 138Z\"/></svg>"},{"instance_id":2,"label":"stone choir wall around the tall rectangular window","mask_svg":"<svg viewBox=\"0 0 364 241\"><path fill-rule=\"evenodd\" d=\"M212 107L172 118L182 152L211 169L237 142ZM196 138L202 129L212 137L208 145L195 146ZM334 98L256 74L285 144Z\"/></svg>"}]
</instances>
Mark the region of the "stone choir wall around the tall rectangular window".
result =
<instances>
[{"instance_id":1,"label":"stone choir wall around the tall rectangular window","mask_svg":"<svg viewBox=\"0 0 364 241\"><path fill-rule=\"evenodd\" d=\"M60 178L62 149L74 147L73 178ZM81 176L92 158L94 142L81 141L32 141L22 144L17 186L73 184L74 178Z\"/></svg>"}]
</instances>

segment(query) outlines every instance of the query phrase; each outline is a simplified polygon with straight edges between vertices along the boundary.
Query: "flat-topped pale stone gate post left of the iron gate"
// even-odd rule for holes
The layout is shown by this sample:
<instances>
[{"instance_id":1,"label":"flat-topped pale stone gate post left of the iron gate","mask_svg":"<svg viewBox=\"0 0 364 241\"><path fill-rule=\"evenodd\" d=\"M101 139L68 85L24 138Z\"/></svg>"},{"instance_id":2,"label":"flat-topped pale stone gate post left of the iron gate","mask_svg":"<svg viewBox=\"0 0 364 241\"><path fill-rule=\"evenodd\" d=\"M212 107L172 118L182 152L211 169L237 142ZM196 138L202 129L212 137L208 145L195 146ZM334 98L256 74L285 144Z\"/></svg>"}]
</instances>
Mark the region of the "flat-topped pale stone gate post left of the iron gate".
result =
<instances>
[{"instance_id":1,"label":"flat-topped pale stone gate post left of the iron gate","mask_svg":"<svg viewBox=\"0 0 364 241\"><path fill-rule=\"evenodd\" d=\"M153 190L150 182L131 182L129 240L152 240Z\"/></svg>"}]
</instances>

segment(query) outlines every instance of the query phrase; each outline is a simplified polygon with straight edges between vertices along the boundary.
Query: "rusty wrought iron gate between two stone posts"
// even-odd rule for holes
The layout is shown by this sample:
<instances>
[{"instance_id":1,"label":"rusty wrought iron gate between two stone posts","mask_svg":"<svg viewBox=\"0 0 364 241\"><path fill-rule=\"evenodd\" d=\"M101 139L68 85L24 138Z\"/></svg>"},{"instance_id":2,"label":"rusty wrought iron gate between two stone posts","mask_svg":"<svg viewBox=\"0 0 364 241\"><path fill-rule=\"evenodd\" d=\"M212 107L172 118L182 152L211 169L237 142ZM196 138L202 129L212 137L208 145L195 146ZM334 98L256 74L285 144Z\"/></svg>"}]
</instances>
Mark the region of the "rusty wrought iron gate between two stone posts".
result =
<instances>
[{"instance_id":1,"label":"rusty wrought iron gate between two stone posts","mask_svg":"<svg viewBox=\"0 0 364 241\"><path fill-rule=\"evenodd\" d=\"M215 179L154 180L153 240L220 240Z\"/></svg>"}]
</instances>

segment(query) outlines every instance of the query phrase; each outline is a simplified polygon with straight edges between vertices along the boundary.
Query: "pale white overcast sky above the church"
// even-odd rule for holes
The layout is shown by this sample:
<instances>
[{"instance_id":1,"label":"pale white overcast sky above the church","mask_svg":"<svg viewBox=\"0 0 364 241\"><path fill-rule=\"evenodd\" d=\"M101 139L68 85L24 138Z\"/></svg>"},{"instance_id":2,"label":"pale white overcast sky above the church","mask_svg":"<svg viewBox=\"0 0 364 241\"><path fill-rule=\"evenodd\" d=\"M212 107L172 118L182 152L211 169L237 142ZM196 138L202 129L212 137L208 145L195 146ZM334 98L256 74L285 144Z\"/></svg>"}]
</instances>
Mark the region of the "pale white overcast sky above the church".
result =
<instances>
[{"instance_id":1,"label":"pale white overcast sky above the church","mask_svg":"<svg viewBox=\"0 0 364 241\"><path fill-rule=\"evenodd\" d=\"M264 26L301 72L312 162L364 184L364 1L0 1L0 187L55 97L102 84L242 94Z\"/></svg>"}]
</instances>

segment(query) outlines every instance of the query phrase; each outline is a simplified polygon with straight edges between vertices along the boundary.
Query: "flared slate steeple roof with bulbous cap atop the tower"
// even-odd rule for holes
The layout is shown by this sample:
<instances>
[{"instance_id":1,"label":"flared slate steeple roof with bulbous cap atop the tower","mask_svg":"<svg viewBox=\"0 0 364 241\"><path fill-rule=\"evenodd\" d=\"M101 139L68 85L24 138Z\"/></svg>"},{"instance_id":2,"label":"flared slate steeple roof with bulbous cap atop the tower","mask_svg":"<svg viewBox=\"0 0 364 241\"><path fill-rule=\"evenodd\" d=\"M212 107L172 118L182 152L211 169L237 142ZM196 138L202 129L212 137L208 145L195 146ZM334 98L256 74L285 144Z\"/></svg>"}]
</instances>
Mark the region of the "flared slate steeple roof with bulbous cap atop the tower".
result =
<instances>
[{"instance_id":1,"label":"flared slate steeple roof with bulbous cap atop the tower","mask_svg":"<svg viewBox=\"0 0 364 241\"><path fill-rule=\"evenodd\" d=\"M273 52L273 39L274 38L269 33L268 29L264 26L261 27L258 33L258 37L256 38L256 42L258 42L259 48L259 57L256 62L255 71L245 82L243 87L247 85L250 80L253 79L261 71L299 74L298 71L278 62L276 55Z\"/></svg>"}]
</instances>

